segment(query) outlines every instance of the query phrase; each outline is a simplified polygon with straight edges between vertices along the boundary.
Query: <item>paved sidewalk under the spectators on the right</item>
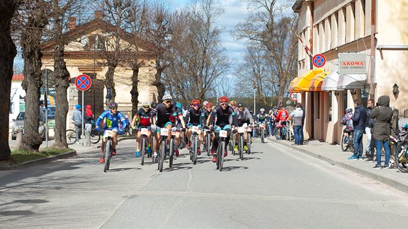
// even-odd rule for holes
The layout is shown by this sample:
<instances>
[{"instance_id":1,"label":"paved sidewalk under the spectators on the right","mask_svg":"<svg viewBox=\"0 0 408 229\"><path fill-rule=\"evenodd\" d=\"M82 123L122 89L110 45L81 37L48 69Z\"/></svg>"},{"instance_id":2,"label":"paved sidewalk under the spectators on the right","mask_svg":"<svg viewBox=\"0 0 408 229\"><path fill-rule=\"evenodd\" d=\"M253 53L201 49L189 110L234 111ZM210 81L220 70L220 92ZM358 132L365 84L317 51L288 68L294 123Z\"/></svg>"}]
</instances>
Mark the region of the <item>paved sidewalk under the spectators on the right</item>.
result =
<instances>
[{"instance_id":1,"label":"paved sidewalk under the spectators on the right","mask_svg":"<svg viewBox=\"0 0 408 229\"><path fill-rule=\"evenodd\" d=\"M341 151L341 146L339 145L331 145L326 142L311 140L305 141L305 144L302 146L294 146L292 145L293 141L276 140L274 137L268 137L268 140L408 193L408 174L400 172L397 168L375 170L373 168L375 163L366 162L365 159L348 160L347 158L352 155L352 153L350 151ZM384 157L382 157L382 160L384 160ZM382 162L382 164L384 164L384 162Z\"/></svg>"}]
</instances>

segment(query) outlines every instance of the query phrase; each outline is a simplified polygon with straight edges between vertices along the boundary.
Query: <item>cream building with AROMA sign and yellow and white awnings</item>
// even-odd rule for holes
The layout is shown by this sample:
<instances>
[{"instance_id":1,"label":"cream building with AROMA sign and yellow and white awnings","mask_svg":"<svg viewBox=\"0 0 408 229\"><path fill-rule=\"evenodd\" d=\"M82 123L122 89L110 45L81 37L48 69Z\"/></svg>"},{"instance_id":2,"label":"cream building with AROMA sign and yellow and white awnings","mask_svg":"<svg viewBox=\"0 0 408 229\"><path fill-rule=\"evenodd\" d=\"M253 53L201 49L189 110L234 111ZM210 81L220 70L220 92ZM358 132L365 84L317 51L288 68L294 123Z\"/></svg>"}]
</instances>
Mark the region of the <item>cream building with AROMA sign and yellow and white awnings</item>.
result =
<instances>
[{"instance_id":1,"label":"cream building with AROMA sign and yellow and white awnings","mask_svg":"<svg viewBox=\"0 0 408 229\"><path fill-rule=\"evenodd\" d=\"M391 107L408 107L403 70L408 63L407 7L408 0L295 2L303 45L299 42L298 76L289 90L304 104L306 138L339 143L341 117L354 98L366 107L368 98L389 95ZM313 65L315 54L326 58L322 68Z\"/></svg>"}]
</instances>

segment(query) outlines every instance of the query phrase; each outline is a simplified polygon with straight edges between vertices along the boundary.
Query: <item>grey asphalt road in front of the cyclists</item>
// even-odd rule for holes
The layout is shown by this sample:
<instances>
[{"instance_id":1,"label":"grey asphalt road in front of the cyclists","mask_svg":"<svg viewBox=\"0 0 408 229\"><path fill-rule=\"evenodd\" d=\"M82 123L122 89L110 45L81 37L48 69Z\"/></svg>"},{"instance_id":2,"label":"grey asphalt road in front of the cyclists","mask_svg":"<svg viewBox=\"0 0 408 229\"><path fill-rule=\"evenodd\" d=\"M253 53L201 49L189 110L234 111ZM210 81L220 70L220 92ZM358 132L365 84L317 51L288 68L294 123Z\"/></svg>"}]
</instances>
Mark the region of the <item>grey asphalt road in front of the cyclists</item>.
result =
<instances>
[{"instance_id":1,"label":"grey asphalt road in front of the cyclists","mask_svg":"<svg viewBox=\"0 0 408 229\"><path fill-rule=\"evenodd\" d=\"M0 171L1 228L402 228L408 196L322 160L254 141L225 170L187 151L169 169L140 165L120 141L111 170L99 149Z\"/></svg>"}]
</instances>

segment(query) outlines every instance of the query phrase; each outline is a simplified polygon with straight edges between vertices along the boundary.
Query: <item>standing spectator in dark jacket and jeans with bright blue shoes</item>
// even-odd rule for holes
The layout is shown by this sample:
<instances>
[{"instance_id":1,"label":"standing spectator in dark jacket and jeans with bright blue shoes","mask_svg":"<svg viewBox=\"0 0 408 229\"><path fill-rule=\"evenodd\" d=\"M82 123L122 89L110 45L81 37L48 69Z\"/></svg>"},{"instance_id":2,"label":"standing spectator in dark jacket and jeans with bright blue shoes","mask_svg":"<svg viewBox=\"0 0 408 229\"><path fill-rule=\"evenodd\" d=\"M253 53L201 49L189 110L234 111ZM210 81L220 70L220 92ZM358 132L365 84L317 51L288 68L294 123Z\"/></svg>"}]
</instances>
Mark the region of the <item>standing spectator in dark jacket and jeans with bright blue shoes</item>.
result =
<instances>
[{"instance_id":1,"label":"standing spectator in dark jacket and jeans with bright blue shoes","mask_svg":"<svg viewBox=\"0 0 408 229\"><path fill-rule=\"evenodd\" d=\"M349 160L363 159L363 134L365 130L365 123L367 122L367 112L361 105L361 99L354 99L354 114L351 118L354 127L354 153L349 157Z\"/></svg>"}]
</instances>

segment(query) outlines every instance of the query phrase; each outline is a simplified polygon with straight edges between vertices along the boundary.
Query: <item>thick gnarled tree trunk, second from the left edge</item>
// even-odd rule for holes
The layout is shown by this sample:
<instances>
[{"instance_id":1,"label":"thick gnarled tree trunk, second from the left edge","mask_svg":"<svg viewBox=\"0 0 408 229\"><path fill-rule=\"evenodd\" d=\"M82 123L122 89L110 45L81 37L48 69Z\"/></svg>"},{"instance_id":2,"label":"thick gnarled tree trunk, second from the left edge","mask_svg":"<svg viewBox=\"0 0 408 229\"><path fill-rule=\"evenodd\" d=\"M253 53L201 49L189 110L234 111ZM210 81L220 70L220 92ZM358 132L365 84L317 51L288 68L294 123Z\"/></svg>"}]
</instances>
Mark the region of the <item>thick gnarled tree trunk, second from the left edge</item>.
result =
<instances>
[{"instance_id":1,"label":"thick gnarled tree trunk, second from the left edge","mask_svg":"<svg viewBox=\"0 0 408 229\"><path fill-rule=\"evenodd\" d=\"M42 33L50 17L50 5L43 0L24 1L20 11L21 48L24 58L23 89L26 90L26 115L21 148L28 151L38 151L42 138L38 133L40 120L40 87L41 72L41 39Z\"/></svg>"}]
</instances>

